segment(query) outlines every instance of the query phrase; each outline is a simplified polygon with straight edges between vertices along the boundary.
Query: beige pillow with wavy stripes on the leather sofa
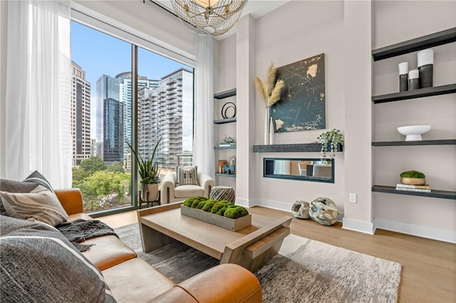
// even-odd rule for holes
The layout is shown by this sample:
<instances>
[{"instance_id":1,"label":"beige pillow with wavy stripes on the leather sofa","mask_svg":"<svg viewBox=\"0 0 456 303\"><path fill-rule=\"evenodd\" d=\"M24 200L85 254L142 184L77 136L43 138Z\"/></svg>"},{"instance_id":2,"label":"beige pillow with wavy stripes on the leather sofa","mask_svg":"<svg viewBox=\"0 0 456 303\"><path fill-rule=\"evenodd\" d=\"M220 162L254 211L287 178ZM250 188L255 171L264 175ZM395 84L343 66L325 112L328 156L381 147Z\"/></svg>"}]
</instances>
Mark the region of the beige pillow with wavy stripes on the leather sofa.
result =
<instances>
[{"instance_id":1,"label":"beige pillow with wavy stripes on the leather sofa","mask_svg":"<svg viewBox=\"0 0 456 303\"><path fill-rule=\"evenodd\" d=\"M0 191L6 213L19 219L35 219L49 225L58 225L68 220L55 193L38 185L30 193L8 193Z\"/></svg>"}]
</instances>

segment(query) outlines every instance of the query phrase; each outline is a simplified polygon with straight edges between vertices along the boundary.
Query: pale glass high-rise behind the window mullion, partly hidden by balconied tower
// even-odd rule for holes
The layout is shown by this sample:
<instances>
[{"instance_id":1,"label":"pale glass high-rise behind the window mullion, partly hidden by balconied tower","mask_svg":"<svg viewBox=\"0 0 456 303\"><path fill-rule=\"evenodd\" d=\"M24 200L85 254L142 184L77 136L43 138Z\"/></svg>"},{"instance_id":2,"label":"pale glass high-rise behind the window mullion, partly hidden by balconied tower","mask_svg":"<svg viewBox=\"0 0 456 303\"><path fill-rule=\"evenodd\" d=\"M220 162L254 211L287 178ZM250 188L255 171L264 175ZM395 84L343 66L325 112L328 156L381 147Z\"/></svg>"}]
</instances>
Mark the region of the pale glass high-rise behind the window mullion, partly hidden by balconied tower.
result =
<instances>
[{"instance_id":1,"label":"pale glass high-rise behind the window mullion, partly hidden by balconied tower","mask_svg":"<svg viewBox=\"0 0 456 303\"><path fill-rule=\"evenodd\" d=\"M120 81L120 102L123 103L123 160L127 160L127 154L130 152L130 148L127 142L131 140L131 129L132 129L132 82L131 73L125 72L115 76ZM138 90L142 87L158 87L160 80L150 80L147 77L138 75Z\"/></svg>"}]
</instances>

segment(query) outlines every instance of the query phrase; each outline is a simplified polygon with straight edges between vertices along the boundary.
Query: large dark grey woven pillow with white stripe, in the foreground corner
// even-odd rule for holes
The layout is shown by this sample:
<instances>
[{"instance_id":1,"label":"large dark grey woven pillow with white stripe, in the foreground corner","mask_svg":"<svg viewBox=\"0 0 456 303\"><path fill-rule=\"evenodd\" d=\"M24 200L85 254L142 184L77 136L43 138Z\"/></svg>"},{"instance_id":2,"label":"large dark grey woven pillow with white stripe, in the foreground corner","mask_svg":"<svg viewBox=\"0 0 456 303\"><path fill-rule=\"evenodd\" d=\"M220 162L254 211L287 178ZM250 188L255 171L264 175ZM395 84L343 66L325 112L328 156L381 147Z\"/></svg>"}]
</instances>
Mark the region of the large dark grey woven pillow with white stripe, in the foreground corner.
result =
<instances>
[{"instance_id":1,"label":"large dark grey woven pillow with white stripe, in the foreground corner","mask_svg":"<svg viewBox=\"0 0 456 303\"><path fill-rule=\"evenodd\" d=\"M1 302L115 302L101 272L55 228L1 216Z\"/></svg>"}]
</instances>

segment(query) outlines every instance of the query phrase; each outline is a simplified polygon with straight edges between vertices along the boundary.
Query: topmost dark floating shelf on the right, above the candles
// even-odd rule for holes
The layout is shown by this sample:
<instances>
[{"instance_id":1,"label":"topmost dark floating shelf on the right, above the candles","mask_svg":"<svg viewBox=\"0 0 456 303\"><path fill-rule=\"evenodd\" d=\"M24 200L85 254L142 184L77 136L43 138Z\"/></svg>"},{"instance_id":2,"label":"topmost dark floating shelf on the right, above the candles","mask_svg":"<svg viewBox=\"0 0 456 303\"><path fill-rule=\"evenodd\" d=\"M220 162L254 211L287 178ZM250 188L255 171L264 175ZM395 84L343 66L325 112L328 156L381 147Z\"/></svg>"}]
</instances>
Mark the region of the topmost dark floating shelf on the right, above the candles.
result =
<instances>
[{"instance_id":1,"label":"topmost dark floating shelf on the right, above the candles","mask_svg":"<svg viewBox=\"0 0 456 303\"><path fill-rule=\"evenodd\" d=\"M441 46L446 43L456 41L456 28L449 28L445 31L431 33L430 35L422 36L408 41L385 46L372 50L372 58L374 61L383 60L395 57L396 55L403 55L425 48L432 48L434 46Z\"/></svg>"}]
</instances>

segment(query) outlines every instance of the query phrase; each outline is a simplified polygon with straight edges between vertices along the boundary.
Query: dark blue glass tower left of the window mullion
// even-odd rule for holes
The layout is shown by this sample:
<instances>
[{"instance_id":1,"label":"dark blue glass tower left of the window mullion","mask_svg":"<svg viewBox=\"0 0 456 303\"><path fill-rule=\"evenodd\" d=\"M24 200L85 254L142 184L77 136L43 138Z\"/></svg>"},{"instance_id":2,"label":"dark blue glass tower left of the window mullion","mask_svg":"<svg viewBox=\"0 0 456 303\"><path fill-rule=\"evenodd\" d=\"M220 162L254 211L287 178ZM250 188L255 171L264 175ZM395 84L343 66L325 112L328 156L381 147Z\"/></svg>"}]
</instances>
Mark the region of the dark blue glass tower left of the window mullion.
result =
<instances>
[{"instance_id":1,"label":"dark blue glass tower left of the window mullion","mask_svg":"<svg viewBox=\"0 0 456 303\"><path fill-rule=\"evenodd\" d=\"M107 164L123 163L123 103L120 80L102 75L97 80L97 156Z\"/></svg>"}]
</instances>

